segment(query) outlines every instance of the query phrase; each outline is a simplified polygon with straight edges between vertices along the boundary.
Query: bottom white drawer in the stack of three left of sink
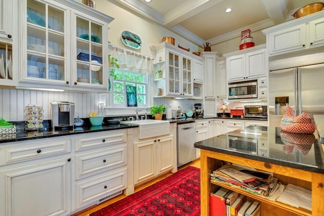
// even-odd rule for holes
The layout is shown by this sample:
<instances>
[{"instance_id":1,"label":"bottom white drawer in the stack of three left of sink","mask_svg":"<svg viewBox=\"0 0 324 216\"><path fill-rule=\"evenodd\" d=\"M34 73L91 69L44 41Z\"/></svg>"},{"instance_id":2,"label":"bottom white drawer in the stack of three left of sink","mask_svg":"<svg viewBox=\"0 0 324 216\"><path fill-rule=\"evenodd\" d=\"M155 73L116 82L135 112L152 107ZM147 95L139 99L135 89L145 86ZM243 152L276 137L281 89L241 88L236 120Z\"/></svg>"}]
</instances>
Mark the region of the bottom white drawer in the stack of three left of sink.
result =
<instances>
[{"instance_id":1,"label":"bottom white drawer in the stack of three left of sink","mask_svg":"<svg viewBox=\"0 0 324 216\"><path fill-rule=\"evenodd\" d=\"M77 183L75 184L75 205L78 208L91 203L96 204L100 199L126 189L126 185L126 168L89 181Z\"/></svg>"}]
</instances>

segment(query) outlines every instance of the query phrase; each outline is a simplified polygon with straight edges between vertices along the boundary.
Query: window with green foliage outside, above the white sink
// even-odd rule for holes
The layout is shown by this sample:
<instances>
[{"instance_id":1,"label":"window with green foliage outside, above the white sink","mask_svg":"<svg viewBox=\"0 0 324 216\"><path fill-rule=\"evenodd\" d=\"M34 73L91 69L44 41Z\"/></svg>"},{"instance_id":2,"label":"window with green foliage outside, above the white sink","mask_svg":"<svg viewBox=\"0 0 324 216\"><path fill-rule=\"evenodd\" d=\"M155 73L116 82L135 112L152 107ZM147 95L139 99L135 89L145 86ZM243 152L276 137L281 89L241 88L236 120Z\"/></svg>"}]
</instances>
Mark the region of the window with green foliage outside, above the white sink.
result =
<instances>
[{"instance_id":1,"label":"window with green foliage outside, above the white sink","mask_svg":"<svg viewBox=\"0 0 324 216\"><path fill-rule=\"evenodd\" d=\"M126 86L136 87L137 106L147 105L147 73L137 73L127 69L115 69L115 79L112 79L112 105L114 107L127 107Z\"/></svg>"}]
</instances>

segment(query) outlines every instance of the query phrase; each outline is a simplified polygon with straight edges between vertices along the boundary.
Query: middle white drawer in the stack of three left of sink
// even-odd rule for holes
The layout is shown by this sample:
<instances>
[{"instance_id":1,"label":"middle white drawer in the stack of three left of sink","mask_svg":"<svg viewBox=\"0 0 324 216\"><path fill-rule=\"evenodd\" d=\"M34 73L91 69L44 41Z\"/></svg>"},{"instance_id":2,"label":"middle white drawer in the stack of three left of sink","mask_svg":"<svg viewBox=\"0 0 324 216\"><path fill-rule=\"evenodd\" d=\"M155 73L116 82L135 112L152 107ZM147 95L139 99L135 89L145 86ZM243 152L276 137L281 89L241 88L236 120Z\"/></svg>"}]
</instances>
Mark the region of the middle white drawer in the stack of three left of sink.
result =
<instances>
[{"instance_id":1,"label":"middle white drawer in the stack of three left of sink","mask_svg":"<svg viewBox=\"0 0 324 216\"><path fill-rule=\"evenodd\" d=\"M127 164L127 145L75 155L75 178L98 174Z\"/></svg>"}]
</instances>

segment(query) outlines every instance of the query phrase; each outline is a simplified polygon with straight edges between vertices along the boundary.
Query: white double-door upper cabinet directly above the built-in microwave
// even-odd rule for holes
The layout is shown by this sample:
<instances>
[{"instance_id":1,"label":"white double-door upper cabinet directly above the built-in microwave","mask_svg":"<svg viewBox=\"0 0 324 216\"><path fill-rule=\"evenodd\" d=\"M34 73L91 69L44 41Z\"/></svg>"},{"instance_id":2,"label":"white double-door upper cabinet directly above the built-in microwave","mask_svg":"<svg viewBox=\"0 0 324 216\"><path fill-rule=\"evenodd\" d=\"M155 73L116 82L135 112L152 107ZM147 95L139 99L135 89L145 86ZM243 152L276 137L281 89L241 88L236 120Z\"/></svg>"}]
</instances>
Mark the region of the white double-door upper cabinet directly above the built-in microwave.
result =
<instances>
[{"instance_id":1,"label":"white double-door upper cabinet directly above the built-in microwave","mask_svg":"<svg viewBox=\"0 0 324 216\"><path fill-rule=\"evenodd\" d=\"M235 51L224 56L228 81L244 81L267 74L265 45Z\"/></svg>"}]
</instances>

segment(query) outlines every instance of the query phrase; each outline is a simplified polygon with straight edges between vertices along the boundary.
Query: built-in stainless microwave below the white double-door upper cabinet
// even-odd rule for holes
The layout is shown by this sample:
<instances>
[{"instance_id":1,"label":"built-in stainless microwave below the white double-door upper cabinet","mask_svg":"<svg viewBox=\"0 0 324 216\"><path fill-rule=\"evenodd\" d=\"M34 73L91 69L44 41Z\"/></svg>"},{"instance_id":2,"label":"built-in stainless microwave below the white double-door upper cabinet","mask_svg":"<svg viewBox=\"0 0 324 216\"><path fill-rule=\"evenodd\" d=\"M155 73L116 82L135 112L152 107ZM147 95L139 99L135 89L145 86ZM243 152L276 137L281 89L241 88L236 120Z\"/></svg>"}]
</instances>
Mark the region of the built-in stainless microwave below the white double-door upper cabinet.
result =
<instances>
[{"instance_id":1,"label":"built-in stainless microwave below the white double-door upper cabinet","mask_svg":"<svg viewBox=\"0 0 324 216\"><path fill-rule=\"evenodd\" d=\"M228 83L228 99L258 98L257 80Z\"/></svg>"}]
</instances>

